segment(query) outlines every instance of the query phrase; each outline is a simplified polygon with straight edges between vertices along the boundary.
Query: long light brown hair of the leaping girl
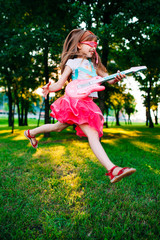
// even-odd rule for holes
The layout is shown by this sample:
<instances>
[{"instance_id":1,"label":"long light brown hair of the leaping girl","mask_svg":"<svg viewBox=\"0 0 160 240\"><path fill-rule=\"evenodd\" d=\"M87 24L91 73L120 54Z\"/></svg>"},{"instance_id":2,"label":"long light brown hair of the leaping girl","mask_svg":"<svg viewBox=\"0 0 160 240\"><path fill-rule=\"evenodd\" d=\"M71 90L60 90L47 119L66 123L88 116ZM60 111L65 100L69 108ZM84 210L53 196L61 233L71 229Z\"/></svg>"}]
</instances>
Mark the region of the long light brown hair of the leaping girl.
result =
<instances>
[{"instance_id":1,"label":"long light brown hair of the leaping girl","mask_svg":"<svg viewBox=\"0 0 160 240\"><path fill-rule=\"evenodd\" d=\"M89 34L86 34L86 32ZM94 35L92 32L88 30L83 30L83 29L73 29L68 36L65 39L64 45L63 45L63 51L61 55L61 73L63 73L65 64L68 59L73 59L76 57L82 57L85 58L84 55L80 54L78 52L78 43L80 43L82 40L83 41L97 41L98 37ZM98 55L98 54L97 54ZM94 53L91 61L93 62L96 70L102 70L106 72L105 66L102 64L101 59L98 55L98 64L96 64L96 54Z\"/></svg>"}]
</instances>

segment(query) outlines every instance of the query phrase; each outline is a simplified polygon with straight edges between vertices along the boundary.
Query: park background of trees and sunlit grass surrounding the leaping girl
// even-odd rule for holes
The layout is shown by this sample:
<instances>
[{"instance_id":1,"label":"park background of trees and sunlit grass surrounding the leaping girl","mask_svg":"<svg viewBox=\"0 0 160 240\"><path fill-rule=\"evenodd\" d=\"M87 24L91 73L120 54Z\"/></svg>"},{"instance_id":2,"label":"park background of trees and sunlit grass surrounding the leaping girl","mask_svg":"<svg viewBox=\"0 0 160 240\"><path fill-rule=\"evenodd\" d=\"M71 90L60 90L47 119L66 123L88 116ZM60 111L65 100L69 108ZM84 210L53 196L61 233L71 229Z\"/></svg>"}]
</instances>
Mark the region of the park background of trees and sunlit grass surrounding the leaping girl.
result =
<instances>
[{"instance_id":1,"label":"park background of trees and sunlit grass surrounding the leaping girl","mask_svg":"<svg viewBox=\"0 0 160 240\"><path fill-rule=\"evenodd\" d=\"M0 239L159 239L160 1L0 3ZM115 185L73 127L39 136L37 150L23 134L55 121L49 106L64 89L46 101L37 89L58 80L63 41L80 27L99 37L109 74L147 66L122 83L105 83L96 101L107 154L137 169Z\"/></svg>"}]
</instances>

